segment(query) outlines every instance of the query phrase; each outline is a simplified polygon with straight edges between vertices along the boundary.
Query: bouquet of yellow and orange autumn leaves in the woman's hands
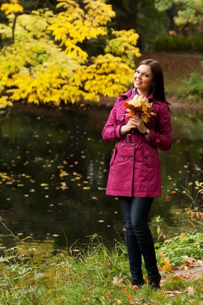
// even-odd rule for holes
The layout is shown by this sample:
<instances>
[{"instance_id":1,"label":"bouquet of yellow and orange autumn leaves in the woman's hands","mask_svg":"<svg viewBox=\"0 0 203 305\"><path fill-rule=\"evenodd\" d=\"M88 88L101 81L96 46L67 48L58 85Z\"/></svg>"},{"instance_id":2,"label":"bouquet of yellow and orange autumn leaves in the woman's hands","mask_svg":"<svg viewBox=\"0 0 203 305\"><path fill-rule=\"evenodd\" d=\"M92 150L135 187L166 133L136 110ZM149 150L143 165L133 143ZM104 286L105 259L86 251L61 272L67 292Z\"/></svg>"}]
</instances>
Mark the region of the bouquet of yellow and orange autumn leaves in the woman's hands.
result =
<instances>
[{"instance_id":1,"label":"bouquet of yellow and orange autumn leaves in the woman's hands","mask_svg":"<svg viewBox=\"0 0 203 305\"><path fill-rule=\"evenodd\" d=\"M125 102L123 106L129 111L126 115L132 116L137 114L142 121L147 123L151 114L156 115L156 113L152 112L152 104L153 102L150 103L146 97L143 98L137 94L131 101Z\"/></svg>"}]
</instances>

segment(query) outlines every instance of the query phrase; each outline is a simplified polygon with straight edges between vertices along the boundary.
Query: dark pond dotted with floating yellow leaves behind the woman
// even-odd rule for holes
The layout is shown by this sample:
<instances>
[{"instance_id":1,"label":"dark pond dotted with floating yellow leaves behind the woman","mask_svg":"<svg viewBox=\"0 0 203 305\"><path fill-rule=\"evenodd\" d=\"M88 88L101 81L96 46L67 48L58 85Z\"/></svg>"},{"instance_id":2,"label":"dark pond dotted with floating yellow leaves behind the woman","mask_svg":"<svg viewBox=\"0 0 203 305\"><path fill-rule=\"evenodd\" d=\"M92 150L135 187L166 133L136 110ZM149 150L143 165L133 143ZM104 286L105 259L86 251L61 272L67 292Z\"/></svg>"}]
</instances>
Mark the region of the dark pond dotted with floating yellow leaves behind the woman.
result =
<instances>
[{"instance_id":1,"label":"dark pond dotted with floating yellow leaves behind the woman","mask_svg":"<svg viewBox=\"0 0 203 305\"><path fill-rule=\"evenodd\" d=\"M108 248L124 240L118 198L105 194L113 142L104 142L101 131L111 108L21 105L0 121L0 215L3 223L28 243L45 249L83 247L91 235L101 236ZM168 236L187 226L182 187L200 179L194 164L203 157L200 113L172 111L173 147L159 151L162 197L155 198L150 226L157 241L155 216L163 219ZM180 192L181 191L181 192ZM9 232L0 224L0 233ZM17 241L3 237L4 247ZM77 245L78 245L77 243Z\"/></svg>"}]
</instances>

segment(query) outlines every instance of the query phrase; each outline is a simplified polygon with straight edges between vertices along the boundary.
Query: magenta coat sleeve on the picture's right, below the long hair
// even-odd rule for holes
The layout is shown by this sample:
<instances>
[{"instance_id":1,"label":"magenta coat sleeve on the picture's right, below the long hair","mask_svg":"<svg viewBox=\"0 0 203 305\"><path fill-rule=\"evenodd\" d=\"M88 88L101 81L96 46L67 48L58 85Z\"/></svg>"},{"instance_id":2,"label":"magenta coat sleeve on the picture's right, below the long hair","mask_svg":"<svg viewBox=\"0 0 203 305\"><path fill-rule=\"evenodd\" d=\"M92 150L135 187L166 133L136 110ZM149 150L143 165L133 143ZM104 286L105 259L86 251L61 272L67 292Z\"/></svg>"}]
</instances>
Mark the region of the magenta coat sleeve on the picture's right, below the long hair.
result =
<instances>
[{"instance_id":1,"label":"magenta coat sleeve on the picture's right, below the long hair","mask_svg":"<svg viewBox=\"0 0 203 305\"><path fill-rule=\"evenodd\" d=\"M171 114L167 104L164 104L158 111L156 131L150 129L150 136L146 141L161 150L166 151L171 149L173 142Z\"/></svg>"}]
</instances>

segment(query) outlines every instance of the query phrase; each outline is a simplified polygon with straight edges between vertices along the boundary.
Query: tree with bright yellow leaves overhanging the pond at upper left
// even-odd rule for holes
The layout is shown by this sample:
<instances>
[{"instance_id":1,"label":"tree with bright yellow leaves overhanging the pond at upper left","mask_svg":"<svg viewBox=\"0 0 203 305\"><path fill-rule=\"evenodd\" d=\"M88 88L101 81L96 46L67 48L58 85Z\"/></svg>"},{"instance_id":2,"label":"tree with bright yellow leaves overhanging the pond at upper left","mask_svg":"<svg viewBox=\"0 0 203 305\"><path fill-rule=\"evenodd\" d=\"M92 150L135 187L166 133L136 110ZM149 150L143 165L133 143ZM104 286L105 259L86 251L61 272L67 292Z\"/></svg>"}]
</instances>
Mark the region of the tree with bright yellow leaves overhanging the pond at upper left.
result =
<instances>
[{"instance_id":1,"label":"tree with bright yellow leaves overhanging the pond at upper left","mask_svg":"<svg viewBox=\"0 0 203 305\"><path fill-rule=\"evenodd\" d=\"M139 35L108 28L115 12L105 0L83 0L82 7L73 0L58 2L55 15L48 9L24 12L17 0L2 5L9 24L0 25L0 34L11 43L0 51L1 107L21 100L99 101L131 84ZM104 52L90 56L84 43L101 38Z\"/></svg>"}]
</instances>

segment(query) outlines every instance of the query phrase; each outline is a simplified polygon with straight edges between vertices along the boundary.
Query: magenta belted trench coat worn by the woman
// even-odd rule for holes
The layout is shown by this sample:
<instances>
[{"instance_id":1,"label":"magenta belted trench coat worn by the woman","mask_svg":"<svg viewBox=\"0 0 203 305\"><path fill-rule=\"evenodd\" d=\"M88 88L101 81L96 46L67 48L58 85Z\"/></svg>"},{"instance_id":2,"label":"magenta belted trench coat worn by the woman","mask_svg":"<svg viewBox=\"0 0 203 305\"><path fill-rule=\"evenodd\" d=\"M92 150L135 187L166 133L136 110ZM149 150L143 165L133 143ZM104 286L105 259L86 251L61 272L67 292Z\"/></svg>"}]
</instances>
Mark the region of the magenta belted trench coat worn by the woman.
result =
<instances>
[{"instance_id":1,"label":"magenta belted trench coat worn by the woman","mask_svg":"<svg viewBox=\"0 0 203 305\"><path fill-rule=\"evenodd\" d=\"M117 143L110 162L107 195L130 197L161 197L161 172L157 148L169 150L172 146L171 115L167 104L152 99L153 112L145 124L150 136L138 130L121 136L120 128L127 124L129 116L123 103L131 100L130 89L118 97L102 132L105 141Z\"/></svg>"}]
</instances>

